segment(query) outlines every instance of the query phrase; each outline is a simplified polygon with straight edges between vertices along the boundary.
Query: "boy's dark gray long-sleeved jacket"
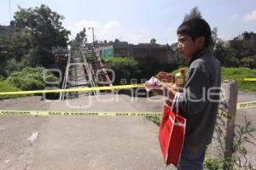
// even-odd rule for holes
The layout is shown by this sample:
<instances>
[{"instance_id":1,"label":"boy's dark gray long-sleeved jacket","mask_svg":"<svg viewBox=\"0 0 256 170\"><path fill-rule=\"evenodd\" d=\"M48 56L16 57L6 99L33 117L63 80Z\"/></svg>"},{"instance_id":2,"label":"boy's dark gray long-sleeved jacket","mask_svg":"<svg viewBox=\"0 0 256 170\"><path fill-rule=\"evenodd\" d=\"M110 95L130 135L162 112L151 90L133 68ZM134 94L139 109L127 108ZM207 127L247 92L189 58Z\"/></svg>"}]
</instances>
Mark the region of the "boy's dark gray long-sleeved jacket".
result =
<instances>
[{"instance_id":1,"label":"boy's dark gray long-sleeved jacket","mask_svg":"<svg viewBox=\"0 0 256 170\"><path fill-rule=\"evenodd\" d=\"M185 144L212 142L220 84L220 64L210 50L202 50L189 60L184 91L178 100L181 115L187 118Z\"/></svg>"}]
</instances>

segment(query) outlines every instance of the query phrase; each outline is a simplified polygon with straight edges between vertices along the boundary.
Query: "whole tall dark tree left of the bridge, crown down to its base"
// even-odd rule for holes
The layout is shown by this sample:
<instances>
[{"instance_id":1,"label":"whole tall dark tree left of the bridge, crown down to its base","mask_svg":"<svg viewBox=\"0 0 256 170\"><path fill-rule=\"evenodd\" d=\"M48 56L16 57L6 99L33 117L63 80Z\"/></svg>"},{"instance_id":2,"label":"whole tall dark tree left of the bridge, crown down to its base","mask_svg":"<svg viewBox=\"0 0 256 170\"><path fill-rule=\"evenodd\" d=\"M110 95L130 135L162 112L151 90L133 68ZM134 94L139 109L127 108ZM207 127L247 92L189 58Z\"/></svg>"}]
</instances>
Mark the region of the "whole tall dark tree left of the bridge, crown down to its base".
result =
<instances>
[{"instance_id":1,"label":"whole tall dark tree left of the bridge, crown down to its base","mask_svg":"<svg viewBox=\"0 0 256 170\"><path fill-rule=\"evenodd\" d=\"M14 15L14 24L26 28L31 36L32 48L27 50L30 66L43 65L49 67L54 63L53 48L67 48L70 31L67 31L61 20L63 16L41 4L36 8L20 8Z\"/></svg>"}]
</instances>

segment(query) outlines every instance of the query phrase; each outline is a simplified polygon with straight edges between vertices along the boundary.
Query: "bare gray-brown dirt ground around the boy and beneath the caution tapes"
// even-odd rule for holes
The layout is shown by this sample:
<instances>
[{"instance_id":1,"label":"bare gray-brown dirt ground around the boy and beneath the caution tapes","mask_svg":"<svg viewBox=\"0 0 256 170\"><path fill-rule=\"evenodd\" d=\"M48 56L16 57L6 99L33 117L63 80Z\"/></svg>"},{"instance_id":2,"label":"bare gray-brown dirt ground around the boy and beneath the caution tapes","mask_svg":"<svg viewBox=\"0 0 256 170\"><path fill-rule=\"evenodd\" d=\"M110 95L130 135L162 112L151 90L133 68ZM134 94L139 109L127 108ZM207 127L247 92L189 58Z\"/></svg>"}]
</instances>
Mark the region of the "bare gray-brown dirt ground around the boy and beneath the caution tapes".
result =
<instances>
[{"instance_id":1,"label":"bare gray-brown dirt ground around the boy and beneath the caution tapes","mask_svg":"<svg viewBox=\"0 0 256 170\"><path fill-rule=\"evenodd\" d=\"M76 106L70 108L65 101L26 97L0 100L0 110L161 111L163 101L155 100L134 101L120 95L111 104L91 99L92 105L84 109L85 98L70 101ZM238 95L238 102L255 100L256 93ZM255 114L255 107L237 110L236 124L242 125L247 116L255 127ZM158 127L143 117L1 116L0 169L165 169L157 132ZM256 165L256 147L247 144L246 148Z\"/></svg>"}]
</instances>

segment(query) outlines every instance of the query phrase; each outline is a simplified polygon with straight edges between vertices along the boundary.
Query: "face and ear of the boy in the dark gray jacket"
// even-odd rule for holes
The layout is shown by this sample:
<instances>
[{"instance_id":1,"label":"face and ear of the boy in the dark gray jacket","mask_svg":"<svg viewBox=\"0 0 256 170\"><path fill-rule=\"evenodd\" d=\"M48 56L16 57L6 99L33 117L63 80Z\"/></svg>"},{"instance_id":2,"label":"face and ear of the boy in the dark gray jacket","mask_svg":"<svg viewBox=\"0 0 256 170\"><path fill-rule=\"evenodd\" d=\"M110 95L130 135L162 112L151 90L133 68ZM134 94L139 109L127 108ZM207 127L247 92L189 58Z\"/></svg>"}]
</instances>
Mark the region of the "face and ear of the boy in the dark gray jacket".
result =
<instances>
[{"instance_id":1,"label":"face and ear of the boy in the dark gray jacket","mask_svg":"<svg viewBox=\"0 0 256 170\"><path fill-rule=\"evenodd\" d=\"M177 34L177 42L178 52L182 54L185 59L190 59L196 51L204 48L205 39L204 37L198 37L193 41L188 35L179 33Z\"/></svg>"}]
</instances>

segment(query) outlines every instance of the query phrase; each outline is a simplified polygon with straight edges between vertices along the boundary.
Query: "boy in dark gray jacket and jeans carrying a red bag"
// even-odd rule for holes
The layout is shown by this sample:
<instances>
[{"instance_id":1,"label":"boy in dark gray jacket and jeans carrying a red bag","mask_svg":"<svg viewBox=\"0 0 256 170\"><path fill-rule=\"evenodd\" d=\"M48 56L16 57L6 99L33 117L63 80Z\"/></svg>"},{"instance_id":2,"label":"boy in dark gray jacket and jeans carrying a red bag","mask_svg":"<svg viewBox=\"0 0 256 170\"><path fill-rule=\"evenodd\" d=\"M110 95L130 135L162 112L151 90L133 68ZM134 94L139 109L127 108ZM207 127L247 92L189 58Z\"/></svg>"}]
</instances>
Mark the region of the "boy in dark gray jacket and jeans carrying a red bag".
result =
<instances>
[{"instance_id":1,"label":"boy in dark gray jacket and jeans carrying a red bag","mask_svg":"<svg viewBox=\"0 0 256 170\"><path fill-rule=\"evenodd\" d=\"M177 28L177 40L179 53L189 59L183 93L178 99L180 115L187 119L187 125L177 169L199 170L203 169L207 144L212 142L217 119L220 65L208 49L211 29L205 20L184 21ZM177 91L165 85L163 88L169 99L173 99Z\"/></svg>"}]
</instances>

